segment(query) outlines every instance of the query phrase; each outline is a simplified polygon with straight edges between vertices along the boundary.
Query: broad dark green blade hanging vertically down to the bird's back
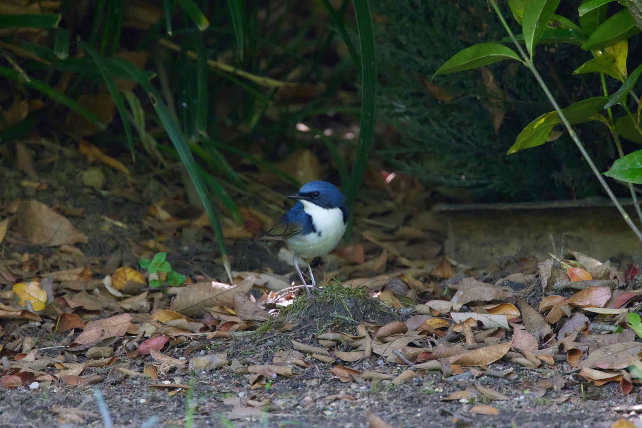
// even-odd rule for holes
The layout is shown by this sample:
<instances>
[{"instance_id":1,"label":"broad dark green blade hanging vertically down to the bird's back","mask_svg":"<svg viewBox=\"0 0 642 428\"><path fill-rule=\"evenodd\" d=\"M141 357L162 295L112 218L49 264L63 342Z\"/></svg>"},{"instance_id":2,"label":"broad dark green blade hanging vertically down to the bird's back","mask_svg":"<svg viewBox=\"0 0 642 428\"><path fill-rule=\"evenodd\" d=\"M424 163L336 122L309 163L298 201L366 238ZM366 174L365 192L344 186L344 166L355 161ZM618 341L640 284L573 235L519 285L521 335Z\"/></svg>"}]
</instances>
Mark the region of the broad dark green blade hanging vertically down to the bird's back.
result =
<instances>
[{"instance_id":1,"label":"broad dark green blade hanging vertically down to the bird's back","mask_svg":"<svg viewBox=\"0 0 642 428\"><path fill-rule=\"evenodd\" d=\"M368 162L368 152L370 151L370 142L372 141L372 132L374 130L377 91L377 64L370 1L354 0L353 4L361 50L361 123L359 142L350 176L350 185L345 196L348 206L351 206L354 198L356 198Z\"/></svg>"}]
</instances>

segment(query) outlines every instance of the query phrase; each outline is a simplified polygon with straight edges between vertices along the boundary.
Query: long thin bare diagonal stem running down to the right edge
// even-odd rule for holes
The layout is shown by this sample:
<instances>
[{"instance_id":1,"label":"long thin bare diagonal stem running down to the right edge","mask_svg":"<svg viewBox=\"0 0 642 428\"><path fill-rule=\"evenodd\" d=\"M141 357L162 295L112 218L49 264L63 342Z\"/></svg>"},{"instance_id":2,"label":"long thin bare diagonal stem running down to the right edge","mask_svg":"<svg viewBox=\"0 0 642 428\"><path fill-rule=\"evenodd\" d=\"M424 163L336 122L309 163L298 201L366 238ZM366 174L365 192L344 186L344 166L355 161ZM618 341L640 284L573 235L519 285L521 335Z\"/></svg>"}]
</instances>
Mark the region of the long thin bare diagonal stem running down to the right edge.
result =
<instances>
[{"instance_id":1,"label":"long thin bare diagonal stem running down to the right edge","mask_svg":"<svg viewBox=\"0 0 642 428\"><path fill-rule=\"evenodd\" d=\"M544 91L544 94L546 94L546 97L548 98L548 101L553 105L553 108L555 108L555 111L557 114L559 114L560 120L566 127L566 130L568 131L569 135L571 136L571 139L573 142L575 142L575 145L577 148L580 150L580 153L582 153L582 156L586 160L587 164L589 164L589 167L591 167L591 171L593 171L593 174L596 176L600 184L602 185L604 191L609 195L609 198L613 201L613 204L616 206L618 211L620 211L620 214L624 221L627 222L627 225L633 230L634 234L638 237L640 241L642 241L642 233L639 231L638 227L636 224L633 222L633 220L630 218L629 214L624 210L622 205L620 204L620 201L618 201L618 198L616 198L615 194L611 190L611 187L607 184L607 182L604 180L602 177L602 173L598 170L598 168L595 166L593 159L591 159L591 155L586 151L586 148L584 148L584 144L582 144L582 141L580 141L580 138L577 136L577 133L571 128L571 124L569 123L568 119L566 119L566 116L564 116L564 113L562 112L562 109L557 105L557 101L555 101L555 98L553 98L553 94L551 94L550 90L548 90L548 86L546 86L546 83L544 80L542 80L542 76L539 75L537 72L537 69L535 68L535 65L533 64L533 61L531 58L526 55L524 52L524 49L522 49L521 45L519 42L517 42L517 39L515 38L515 35L513 32L510 30L510 27L508 26L508 23L504 19L504 15L501 13L501 10L499 10L499 6L497 5L496 0L490 0L490 4L492 4L492 7L495 10L495 13L497 13L499 17L499 21L501 21L501 24L504 26L506 29L508 35L510 35L510 38L513 40L513 43L517 47L517 51L519 52L519 55L524 60L524 64L526 64L526 67L530 69L531 73L535 76L535 80L537 80L537 83L542 87L542 90Z\"/></svg>"}]
</instances>

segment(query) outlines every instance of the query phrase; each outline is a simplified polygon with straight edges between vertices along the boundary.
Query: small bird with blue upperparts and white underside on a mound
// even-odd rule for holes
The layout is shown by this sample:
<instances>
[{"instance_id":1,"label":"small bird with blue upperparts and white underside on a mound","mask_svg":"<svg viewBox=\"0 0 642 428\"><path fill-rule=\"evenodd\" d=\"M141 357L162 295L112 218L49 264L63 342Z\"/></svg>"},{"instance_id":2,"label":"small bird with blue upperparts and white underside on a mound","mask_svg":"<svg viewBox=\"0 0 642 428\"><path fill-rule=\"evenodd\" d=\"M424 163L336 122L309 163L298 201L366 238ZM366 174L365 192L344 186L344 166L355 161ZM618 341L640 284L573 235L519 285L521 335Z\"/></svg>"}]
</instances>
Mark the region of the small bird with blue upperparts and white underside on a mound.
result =
<instances>
[{"instance_id":1,"label":"small bird with blue upperparts and white underside on a mound","mask_svg":"<svg viewBox=\"0 0 642 428\"><path fill-rule=\"evenodd\" d=\"M306 280L299 269L298 257L308 263L314 290L317 284L309 259L331 252L339 243L348 223L348 209L343 194L328 182L308 182L297 194L286 198L299 201L270 230L256 239L282 239L285 242L294 253L292 263L310 296Z\"/></svg>"}]
</instances>

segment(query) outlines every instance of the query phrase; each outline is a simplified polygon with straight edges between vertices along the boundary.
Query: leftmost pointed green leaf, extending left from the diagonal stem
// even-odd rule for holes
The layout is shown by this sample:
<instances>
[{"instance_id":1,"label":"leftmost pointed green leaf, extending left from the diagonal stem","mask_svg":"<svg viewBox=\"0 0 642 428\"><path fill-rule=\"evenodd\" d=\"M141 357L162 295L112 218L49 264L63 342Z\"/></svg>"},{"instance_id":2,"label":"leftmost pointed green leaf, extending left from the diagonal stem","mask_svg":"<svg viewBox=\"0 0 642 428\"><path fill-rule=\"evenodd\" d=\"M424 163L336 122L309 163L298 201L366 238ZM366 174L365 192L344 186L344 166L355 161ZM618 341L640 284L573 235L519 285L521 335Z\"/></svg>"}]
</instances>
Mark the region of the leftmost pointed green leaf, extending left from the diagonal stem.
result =
<instances>
[{"instance_id":1,"label":"leftmost pointed green leaf, extending left from the diagonal stem","mask_svg":"<svg viewBox=\"0 0 642 428\"><path fill-rule=\"evenodd\" d=\"M470 70L483 65L493 64L503 60L517 60L519 55L510 47L499 43L480 43L469 46L446 61L446 64L439 67L433 78L439 74L456 73L458 71Z\"/></svg>"}]
</instances>

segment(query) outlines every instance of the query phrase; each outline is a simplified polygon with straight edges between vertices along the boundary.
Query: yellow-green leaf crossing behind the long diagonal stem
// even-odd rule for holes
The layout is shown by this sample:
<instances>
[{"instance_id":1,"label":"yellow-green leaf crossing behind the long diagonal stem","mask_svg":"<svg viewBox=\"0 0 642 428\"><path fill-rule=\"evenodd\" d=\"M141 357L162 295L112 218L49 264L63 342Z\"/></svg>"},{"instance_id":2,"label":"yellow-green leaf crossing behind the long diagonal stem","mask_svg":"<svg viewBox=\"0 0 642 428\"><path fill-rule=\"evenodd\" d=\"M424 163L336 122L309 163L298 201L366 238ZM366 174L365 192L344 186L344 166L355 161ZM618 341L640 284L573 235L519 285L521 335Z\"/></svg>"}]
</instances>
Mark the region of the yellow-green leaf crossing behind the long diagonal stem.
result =
<instances>
[{"instance_id":1,"label":"yellow-green leaf crossing behind the long diagonal stem","mask_svg":"<svg viewBox=\"0 0 642 428\"><path fill-rule=\"evenodd\" d=\"M606 117L598 114L603 110L607 100L608 98L606 97L582 99L582 101L571 104L569 107L562 108L562 113L564 113L570 124L589 121L600 121L608 124L609 121ZM537 117L517 135L515 144L508 149L508 155L519 150L541 146L548 140L548 134L553 130L553 127L560 123L562 121L555 111L544 113L542 116Z\"/></svg>"}]
</instances>

